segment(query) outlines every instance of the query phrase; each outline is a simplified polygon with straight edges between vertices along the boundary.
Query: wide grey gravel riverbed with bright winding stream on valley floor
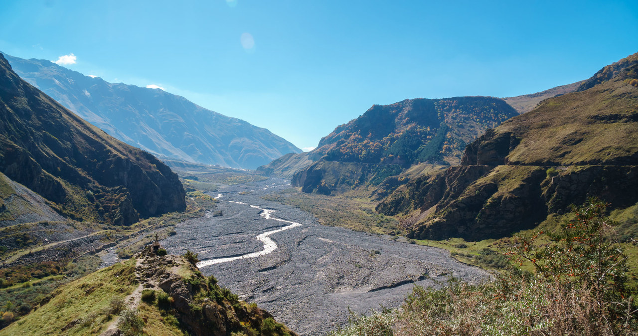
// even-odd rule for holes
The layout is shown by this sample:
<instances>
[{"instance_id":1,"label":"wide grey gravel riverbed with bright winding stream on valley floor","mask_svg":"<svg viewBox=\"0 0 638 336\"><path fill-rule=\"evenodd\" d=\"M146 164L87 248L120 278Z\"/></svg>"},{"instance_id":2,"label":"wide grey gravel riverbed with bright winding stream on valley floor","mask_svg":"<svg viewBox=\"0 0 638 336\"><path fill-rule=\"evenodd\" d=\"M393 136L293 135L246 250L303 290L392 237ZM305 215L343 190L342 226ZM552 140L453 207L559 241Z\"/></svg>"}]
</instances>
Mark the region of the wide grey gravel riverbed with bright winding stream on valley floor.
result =
<instances>
[{"instance_id":1,"label":"wide grey gravel riverbed with bright winding stream on valley floor","mask_svg":"<svg viewBox=\"0 0 638 336\"><path fill-rule=\"evenodd\" d=\"M307 212L260 198L286 184L269 179L222 187L213 196L221 193L215 210L223 215L181 223L177 235L161 244L172 254L199 253L204 275L214 274L221 286L300 335L338 328L348 320L348 308L365 313L398 307L414 284L436 286L448 275L468 282L489 276L445 250L322 226ZM264 249L272 252L259 253Z\"/></svg>"}]
</instances>

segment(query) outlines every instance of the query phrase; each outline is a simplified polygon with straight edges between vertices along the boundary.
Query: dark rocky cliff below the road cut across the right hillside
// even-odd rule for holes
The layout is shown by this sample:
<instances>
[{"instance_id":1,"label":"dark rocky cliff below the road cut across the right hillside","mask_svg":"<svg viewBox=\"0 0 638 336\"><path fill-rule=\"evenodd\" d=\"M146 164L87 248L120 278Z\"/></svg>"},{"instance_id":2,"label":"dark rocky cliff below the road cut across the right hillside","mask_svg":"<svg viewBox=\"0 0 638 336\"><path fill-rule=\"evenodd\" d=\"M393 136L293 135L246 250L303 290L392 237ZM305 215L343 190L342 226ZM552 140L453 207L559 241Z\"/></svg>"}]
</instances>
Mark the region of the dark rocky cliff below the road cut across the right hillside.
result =
<instances>
[{"instance_id":1,"label":"dark rocky cliff below the road cut across the right hillside","mask_svg":"<svg viewBox=\"0 0 638 336\"><path fill-rule=\"evenodd\" d=\"M450 167L410 181L376 210L387 215L429 211L424 219L406 221L410 238L482 240L533 228L591 196L611 208L638 201L638 166L558 168L549 175L546 166Z\"/></svg>"}]
</instances>

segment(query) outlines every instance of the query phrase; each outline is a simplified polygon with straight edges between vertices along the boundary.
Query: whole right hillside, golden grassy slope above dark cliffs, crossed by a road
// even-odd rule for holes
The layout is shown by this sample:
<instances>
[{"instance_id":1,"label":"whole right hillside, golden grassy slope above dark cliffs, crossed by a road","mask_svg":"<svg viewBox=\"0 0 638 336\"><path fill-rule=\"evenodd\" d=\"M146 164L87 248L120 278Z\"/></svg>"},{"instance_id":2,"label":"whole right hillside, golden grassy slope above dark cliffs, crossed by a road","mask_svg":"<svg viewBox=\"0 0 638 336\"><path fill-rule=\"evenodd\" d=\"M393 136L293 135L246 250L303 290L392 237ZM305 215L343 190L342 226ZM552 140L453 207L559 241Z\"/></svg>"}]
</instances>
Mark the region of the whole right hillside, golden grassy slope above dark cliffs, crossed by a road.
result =
<instances>
[{"instance_id":1,"label":"whole right hillside, golden grassy slope above dark cliffs, crossed by a road","mask_svg":"<svg viewBox=\"0 0 638 336\"><path fill-rule=\"evenodd\" d=\"M589 89L487 131L466 147L461 166L412 180L377 210L408 215L409 237L480 240L532 228L588 196L611 208L634 205L638 88L627 78L638 77L637 55L599 71Z\"/></svg>"}]
</instances>

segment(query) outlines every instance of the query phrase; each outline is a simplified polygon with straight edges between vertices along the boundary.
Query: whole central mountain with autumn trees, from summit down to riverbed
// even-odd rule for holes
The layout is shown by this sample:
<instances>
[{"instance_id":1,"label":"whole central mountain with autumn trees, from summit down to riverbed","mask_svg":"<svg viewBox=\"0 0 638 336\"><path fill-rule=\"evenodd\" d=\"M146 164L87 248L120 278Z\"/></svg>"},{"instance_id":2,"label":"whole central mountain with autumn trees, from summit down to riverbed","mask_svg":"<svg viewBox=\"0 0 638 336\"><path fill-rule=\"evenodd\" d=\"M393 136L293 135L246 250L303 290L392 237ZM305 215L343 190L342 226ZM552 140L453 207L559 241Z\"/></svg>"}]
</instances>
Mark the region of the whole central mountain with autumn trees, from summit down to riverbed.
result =
<instances>
[{"instance_id":1,"label":"whole central mountain with autumn trees, from summit down to riverbed","mask_svg":"<svg viewBox=\"0 0 638 336\"><path fill-rule=\"evenodd\" d=\"M374 105L311 152L281 157L258 171L290 177L306 193L376 185L412 164L459 163L466 143L514 115L503 99L481 96Z\"/></svg>"}]
</instances>

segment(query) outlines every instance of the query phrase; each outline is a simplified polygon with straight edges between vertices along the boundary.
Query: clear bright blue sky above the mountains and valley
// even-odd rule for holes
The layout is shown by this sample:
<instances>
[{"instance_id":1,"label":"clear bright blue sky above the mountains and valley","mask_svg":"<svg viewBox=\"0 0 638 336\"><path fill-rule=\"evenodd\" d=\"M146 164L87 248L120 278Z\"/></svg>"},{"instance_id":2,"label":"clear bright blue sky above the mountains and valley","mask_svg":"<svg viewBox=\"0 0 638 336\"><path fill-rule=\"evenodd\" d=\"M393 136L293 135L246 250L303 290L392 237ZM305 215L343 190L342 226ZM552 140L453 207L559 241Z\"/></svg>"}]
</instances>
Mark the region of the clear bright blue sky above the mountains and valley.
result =
<instances>
[{"instance_id":1,"label":"clear bright blue sky above the mountains and valley","mask_svg":"<svg viewBox=\"0 0 638 336\"><path fill-rule=\"evenodd\" d=\"M373 104L528 94L638 52L635 0L4 0L0 22L7 54L73 54L300 148Z\"/></svg>"}]
</instances>

